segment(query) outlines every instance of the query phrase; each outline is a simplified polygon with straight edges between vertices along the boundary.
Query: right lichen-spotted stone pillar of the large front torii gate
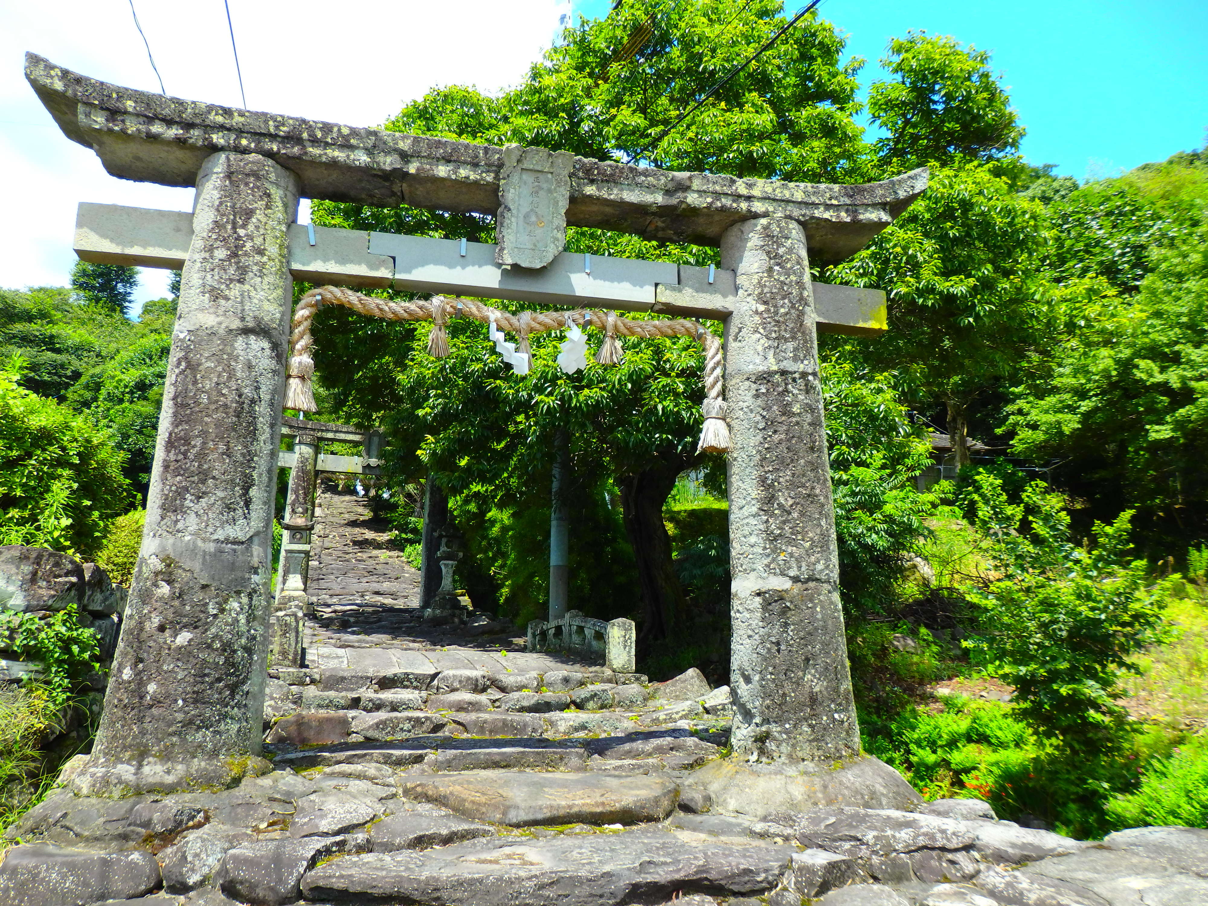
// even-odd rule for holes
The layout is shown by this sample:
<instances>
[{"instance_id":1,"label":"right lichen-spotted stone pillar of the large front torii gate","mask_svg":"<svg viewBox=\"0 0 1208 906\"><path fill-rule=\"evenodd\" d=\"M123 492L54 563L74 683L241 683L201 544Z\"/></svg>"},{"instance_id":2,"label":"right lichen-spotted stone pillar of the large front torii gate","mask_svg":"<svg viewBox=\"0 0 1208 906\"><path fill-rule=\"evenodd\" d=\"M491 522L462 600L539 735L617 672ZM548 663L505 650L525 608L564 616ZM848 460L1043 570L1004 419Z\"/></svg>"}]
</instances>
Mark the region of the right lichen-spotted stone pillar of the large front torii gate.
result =
<instances>
[{"instance_id":1,"label":"right lichen-spotted stone pillar of the large front torii gate","mask_svg":"<svg viewBox=\"0 0 1208 906\"><path fill-rule=\"evenodd\" d=\"M721 266L738 281L726 326L734 755L854 759L805 232L783 217L736 223Z\"/></svg>"}]
</instances>

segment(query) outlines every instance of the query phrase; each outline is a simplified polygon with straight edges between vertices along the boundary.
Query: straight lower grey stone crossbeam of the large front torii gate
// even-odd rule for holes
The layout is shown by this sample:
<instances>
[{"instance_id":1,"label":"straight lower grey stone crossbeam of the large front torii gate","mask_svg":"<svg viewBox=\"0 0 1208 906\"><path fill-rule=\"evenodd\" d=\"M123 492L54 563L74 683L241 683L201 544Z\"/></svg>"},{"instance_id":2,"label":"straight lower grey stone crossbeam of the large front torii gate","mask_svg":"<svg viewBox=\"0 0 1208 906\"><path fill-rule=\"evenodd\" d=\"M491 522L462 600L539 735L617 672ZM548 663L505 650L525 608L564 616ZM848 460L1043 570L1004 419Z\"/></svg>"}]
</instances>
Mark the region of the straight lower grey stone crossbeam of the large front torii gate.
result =
<instances>
[{"instance_id":1,"label":"straight lower grey stone crossbeam of the large front torii gate","mask_svg":"<svg viewBox=\"0 0 1208 906\"><path fill-rule=\"evenodd\" d=\"M714 320L727 318L737 298L734 272L721 268L710 272L708 267L562 252L547 267L527 271L496 265L496 246L489 243L297 223L289 227L289 237L290 273L315 284L393 286ZM76 219L75 251L99 265L179 269L191 240L192 219L184 211L83 203ZM813 290L819 331L884 332L885 294L881 290L824 283L814 283Z\"/></svg>"}]
</instances>

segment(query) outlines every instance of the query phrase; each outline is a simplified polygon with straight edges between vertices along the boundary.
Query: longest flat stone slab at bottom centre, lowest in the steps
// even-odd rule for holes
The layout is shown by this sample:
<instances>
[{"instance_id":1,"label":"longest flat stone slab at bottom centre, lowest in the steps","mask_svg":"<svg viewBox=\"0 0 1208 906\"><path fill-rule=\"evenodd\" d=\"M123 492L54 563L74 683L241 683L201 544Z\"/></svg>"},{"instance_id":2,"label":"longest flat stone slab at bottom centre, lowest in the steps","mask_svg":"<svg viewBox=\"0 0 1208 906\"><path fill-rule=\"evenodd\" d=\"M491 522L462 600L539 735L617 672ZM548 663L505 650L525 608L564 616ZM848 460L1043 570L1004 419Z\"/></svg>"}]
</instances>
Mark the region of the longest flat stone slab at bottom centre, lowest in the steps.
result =
<instances>
[{"instance_id":1,"label":"longest flat stone slab at bottom centre, lowest in the steps","mask_svg":"<svg viewBox=\"0 0 1208 906\"><path fill-rule=\"evenodd\" d=\"M484 840L426 853L374 853L315 869L312 900L446 906L625 906L680 892L756 894L774 887L791 847L721 841L666 830L544 841Z\"/></svg>"}]
</instances>

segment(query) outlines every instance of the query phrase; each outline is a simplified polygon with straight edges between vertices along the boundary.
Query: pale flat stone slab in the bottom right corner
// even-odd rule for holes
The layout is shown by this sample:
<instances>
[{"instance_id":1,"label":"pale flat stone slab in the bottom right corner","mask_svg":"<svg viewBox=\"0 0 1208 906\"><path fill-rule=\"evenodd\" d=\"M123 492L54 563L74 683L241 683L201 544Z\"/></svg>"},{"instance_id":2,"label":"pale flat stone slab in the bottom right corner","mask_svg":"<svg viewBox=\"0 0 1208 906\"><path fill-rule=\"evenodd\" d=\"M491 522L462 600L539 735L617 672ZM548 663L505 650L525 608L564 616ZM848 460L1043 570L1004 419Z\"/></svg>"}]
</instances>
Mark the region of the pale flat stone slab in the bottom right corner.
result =
<instances>
[{"instance_id":1,"label":"pale flat stone slab in the bottom right corner","mask_svg":"<svg viewBox=\"0 0 1208 906\"><path fill-rule=\"evenodd\" d=\"M1010 873L1076 884L1111 906L1208 906L1208 879L1127 850L1087 848Z\"/></svg>"}]
</instances>

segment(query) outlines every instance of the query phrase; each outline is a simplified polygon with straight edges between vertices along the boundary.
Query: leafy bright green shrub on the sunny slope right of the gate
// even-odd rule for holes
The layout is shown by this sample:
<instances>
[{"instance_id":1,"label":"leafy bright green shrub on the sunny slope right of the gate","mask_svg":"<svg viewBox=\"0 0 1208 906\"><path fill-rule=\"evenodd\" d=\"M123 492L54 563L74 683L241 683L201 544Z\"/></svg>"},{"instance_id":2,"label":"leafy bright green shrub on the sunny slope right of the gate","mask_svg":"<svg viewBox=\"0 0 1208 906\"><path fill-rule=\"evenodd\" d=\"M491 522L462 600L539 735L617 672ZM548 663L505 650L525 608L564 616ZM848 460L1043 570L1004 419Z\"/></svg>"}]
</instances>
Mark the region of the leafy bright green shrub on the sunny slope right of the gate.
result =
<instances>
[{"instance_id":1,"label":"leafy bright green shrub on the sunny slope right of the gate","mask_svg":"<svg viewBox=\"0 0 1208 906\"><path fill-rule=\"evenodd\" d=\"M1127 561L1129 512L1094 524L1094 545L1070 540L1064 498L1041 482L1010 504L1001 480L975 475L966 492L989 539L993 575L968 594L980 610L966 645L1015 686L1024 716L1075 748L1110 747L1122 716L1119 680L1160 637L1165 590L1150 588L1144 561Z\"/></svg>"}]
</instances>

